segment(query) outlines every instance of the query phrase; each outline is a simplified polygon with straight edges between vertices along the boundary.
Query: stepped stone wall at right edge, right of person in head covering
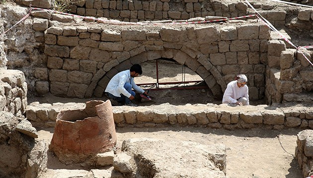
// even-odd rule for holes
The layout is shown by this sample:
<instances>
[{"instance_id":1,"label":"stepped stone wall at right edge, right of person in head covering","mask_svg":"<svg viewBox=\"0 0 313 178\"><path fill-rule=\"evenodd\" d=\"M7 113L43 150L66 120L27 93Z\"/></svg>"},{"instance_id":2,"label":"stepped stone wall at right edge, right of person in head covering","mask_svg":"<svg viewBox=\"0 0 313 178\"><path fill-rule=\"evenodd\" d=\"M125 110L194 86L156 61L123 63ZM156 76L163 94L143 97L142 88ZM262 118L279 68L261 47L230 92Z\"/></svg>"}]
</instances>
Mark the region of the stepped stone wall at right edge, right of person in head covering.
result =
<instances>
[{"instance_id":1,"label":"stepped stone wall at right edge, right of person in head covering","mask_svg":"<svg viewBox=\"0 0 313 178\"><path fill-rule=\"evenodd\" d=\"M267 103L312 102L313 70L303 54L286 49L283 41L269 41L266 72ZM312 52L302 50L310 61Z\"/></svg>"}]
</instances>

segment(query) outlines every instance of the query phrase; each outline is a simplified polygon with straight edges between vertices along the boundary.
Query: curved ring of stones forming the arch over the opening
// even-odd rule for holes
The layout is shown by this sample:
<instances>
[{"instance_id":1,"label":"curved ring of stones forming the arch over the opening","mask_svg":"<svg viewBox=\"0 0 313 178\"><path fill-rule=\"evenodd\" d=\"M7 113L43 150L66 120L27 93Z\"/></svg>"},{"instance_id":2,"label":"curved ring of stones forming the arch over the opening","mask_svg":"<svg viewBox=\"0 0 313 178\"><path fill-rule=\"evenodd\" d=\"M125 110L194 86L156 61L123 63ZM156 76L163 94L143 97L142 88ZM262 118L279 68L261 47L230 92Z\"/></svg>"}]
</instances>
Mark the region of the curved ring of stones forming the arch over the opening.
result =
<instances>
[{"instance_id":1,"label":"curved ring of stones forming the arch over the opening","mask_svg":"<svg viewBox=\"0 0 313 178\"><path fill-rule=\"evenodd\" d=\"M96 97L102 97L106 85L115 74L129 69L133 64L141 64L159 58L173 59L177 63L187 66L205 81L215 97L221 98L223 95L226 89L224 78L217 68L211 64L208 55L198 55L198 57L192 58L179 49L164 49L145 51L121 63L116 59L108 62L105 64L107 67L104 67L106 71L100 69L91 79L85 98L91 97L92 94Z\"/></svg>"}]
</instances>

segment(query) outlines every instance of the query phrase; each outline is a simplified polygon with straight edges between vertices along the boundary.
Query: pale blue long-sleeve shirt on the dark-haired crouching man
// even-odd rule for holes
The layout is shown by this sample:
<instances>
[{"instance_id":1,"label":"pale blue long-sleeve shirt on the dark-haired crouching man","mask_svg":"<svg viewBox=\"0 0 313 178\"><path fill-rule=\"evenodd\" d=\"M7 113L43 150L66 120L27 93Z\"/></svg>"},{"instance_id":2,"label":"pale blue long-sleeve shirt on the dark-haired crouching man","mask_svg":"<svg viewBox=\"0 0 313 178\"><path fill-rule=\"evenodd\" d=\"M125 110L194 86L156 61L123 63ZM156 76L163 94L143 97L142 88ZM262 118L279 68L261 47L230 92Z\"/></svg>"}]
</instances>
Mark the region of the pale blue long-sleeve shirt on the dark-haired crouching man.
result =
<instances>
[{"instance_id":1,"label":"pale blue long-sleeve shirt on the dark-haired crouching man","mask_svg":"<svg viewBox=\"0 0 313 178\"><path fill-rule=\"evenodd\" d=\"M139 93L145 92L145 90L141 89L135 84L134 78L130 75L130 70L119 72L114 77L112 77L112 79L106 86L105 92L109 92L117 97L120 97L121 94L126 97L130 97L132 94L124 88L125 83L130 83L132 85L132 88Z\"/></svg>"}]
</instances>

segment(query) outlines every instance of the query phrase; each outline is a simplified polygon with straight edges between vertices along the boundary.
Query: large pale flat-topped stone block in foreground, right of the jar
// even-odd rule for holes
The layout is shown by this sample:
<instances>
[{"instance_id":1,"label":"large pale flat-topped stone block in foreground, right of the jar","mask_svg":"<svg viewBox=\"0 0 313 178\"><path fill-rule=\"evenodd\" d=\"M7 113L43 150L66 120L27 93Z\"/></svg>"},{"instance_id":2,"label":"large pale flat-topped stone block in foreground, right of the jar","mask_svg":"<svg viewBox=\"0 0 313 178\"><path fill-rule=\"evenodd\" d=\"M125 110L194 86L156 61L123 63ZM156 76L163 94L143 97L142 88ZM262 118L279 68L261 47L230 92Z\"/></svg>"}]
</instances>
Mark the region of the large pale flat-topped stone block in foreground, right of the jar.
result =
<instances>
[{"instance_id":1,"label":"large pale flat-topped stone block in foreground, right of the jar","mask_svg":"<svg viewBox=\"0 0 313 178\"><path fill-rule=\"evenodd\" d=\"M140 138L123 141L122 151L131 157L129 161L141 177L149 174L157 178L226 178L223 144ZM141 158L139 162L133 161L138 157Z\"/></svg>"}]
</instances>

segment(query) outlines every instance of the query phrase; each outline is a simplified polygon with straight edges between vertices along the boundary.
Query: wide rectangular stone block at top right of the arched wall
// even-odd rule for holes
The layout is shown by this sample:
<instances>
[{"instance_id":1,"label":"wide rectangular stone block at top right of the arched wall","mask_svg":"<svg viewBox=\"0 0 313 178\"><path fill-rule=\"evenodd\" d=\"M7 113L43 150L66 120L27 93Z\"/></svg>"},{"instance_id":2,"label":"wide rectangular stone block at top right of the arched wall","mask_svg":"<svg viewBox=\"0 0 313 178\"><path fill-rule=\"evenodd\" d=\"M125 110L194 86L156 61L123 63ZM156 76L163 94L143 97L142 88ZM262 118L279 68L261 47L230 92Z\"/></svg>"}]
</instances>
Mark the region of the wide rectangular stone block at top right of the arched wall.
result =
<instances>
[{"instance_id":1,"label":"wide rectangular stone block at top right of the arched wall","mask_svg":"<svg viewBox=\"0 0 313 178\"><path fill-rule=\"evenodd\" d=\"M254 40L259 37L259 26L240 25L237 26L238 40Z\"/></svg>"}]
</instances>

